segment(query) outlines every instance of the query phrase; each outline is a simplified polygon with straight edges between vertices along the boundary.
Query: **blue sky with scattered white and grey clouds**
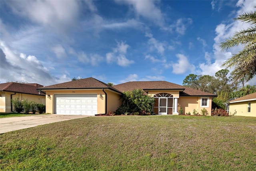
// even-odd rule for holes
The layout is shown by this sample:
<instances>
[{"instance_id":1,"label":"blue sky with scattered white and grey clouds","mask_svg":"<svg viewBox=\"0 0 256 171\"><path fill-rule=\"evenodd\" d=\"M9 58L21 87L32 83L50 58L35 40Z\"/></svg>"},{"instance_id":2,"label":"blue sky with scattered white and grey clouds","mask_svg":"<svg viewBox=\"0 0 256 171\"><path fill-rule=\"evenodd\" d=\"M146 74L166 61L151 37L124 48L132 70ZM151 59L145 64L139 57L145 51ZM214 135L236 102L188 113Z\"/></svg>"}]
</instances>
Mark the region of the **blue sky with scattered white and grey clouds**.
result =
<instances>
[{"instance_id":1,"label":"blue sky with scattered white and grey clouds","mask_svg":"<svg viewBox=\"0 0 256 171\"><path fill-rule=\"evenodd\" d=\"M209 74L241 50L220 42L256 0L1 0L0 82L52 85L165 80ZM256 84L256 79L250 84Z\"/></svg>"}]
</instances>

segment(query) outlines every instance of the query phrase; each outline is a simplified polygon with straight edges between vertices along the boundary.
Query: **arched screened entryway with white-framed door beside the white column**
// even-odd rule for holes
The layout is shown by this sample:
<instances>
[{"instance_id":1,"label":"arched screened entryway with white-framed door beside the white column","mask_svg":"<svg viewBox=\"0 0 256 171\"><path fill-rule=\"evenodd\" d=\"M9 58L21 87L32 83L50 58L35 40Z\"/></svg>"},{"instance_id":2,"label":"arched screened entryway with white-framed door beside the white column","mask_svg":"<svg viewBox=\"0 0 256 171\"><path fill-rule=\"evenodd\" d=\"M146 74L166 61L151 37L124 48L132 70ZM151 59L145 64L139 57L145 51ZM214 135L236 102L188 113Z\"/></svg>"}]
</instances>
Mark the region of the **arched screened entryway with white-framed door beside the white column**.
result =
<instances>
[{"instance_id":1,"label":"arched screened entryway with white-framed door beside the white column","mask_svg":"<svg viewBox=\"0 0 256 171\"><path fill-rule=\"evenodd\" d=\"M169 93L154 95L154 112L158 115L172 115L173 95Z\"/></svg>"}]
</instances>

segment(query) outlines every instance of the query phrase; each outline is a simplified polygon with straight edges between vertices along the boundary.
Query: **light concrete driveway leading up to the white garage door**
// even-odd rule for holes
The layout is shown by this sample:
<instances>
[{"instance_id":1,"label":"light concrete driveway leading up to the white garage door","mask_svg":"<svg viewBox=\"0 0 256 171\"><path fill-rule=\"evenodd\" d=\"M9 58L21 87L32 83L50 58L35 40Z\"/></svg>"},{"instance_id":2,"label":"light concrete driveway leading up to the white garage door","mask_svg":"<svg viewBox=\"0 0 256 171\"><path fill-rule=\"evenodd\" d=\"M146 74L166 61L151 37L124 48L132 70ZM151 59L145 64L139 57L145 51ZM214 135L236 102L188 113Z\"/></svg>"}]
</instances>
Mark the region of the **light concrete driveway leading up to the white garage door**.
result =
<instances>
[{"instance_id":1,"label":"light concrete driveway leading up to the white garage door","mask_svg":"<svg viewBox=\"0 0 256 171\"><path fill-rule=\"evenodd\" d=\"M36 127L47 123L89 117L88 115L35 115L0 118L0 133Z\"/></svg>"}]
</instances>

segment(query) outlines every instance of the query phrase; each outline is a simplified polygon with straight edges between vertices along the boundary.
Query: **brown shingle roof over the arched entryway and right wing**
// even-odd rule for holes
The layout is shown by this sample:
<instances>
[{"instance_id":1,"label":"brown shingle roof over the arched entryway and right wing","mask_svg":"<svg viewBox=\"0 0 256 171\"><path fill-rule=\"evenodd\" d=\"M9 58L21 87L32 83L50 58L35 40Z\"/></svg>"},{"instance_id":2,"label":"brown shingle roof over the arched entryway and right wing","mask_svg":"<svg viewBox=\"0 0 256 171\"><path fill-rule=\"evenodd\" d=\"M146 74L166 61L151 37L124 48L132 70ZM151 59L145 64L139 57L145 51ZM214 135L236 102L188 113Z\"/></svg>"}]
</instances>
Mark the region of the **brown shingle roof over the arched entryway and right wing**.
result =
<instances>
[{"instance_id":1,"label":"brown shingle roof over the arched entryway and right wing","mask_svg":"<svg viewBox=\"0 0 256 171\"><path fill-rule=\"evenodd\" d=\"M180 96L216 96L212 93L192 89L182 85L166 82L166 81L145 81L145 82L127 82L123 84L114 85L120 91L132 91L134 89L154 90L154 89L178 89Z\"/></svg>"}]
</instances>

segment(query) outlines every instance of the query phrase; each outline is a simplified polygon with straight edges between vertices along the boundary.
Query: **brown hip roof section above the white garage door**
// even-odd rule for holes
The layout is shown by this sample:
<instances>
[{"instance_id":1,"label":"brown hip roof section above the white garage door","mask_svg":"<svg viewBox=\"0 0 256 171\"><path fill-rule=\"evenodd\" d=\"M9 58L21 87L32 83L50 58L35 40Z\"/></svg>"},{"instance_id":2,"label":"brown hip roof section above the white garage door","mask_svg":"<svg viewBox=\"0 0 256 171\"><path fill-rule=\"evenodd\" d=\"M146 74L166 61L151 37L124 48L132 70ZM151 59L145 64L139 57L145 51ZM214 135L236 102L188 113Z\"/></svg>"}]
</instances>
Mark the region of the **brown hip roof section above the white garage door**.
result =
<instances>
[{"instance_id":1,"label":"brown hip roof section above the white garage door","mask_svg":"<svg viewBox=\"0 0 256 171\"><path fill-rule=\"evenodd\" d=\"M66 82L66 83L60 83L60 84L55 84L55 85L49 85L46 87L40 87L38 89L102 89L102 88L107 88L111 89L113 91L116 91L118 93L121 93L118 89L101 82L99 80L96 80L95 78L84 78L81 80L75 80L71 82Z\"/></svg>"}]
</instances>

